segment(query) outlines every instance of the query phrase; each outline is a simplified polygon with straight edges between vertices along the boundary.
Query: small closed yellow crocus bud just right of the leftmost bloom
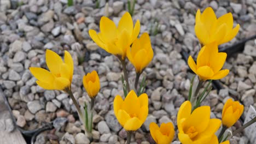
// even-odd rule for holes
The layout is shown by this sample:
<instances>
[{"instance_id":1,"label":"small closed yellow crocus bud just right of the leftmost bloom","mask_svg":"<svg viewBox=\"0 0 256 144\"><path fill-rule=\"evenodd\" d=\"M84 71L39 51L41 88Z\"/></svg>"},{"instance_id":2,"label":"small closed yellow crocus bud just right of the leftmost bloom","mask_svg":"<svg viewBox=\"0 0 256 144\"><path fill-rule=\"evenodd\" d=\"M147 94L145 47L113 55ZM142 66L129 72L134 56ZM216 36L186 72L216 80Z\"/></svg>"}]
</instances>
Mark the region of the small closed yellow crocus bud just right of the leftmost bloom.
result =
<instances>
[{"instance_id":1,"label":"small closed yellow crocus bud just right of the leftmost bloom","mask_svg":"<svg viewBox=\"0 0 256 144\"><path fill-rule=\"evenodd\" d=\"M90 98L96 97L101 88L100 79L98 78L98 74L95 70L84 75L83 84Z\"/></svg>"}]
</instances>

